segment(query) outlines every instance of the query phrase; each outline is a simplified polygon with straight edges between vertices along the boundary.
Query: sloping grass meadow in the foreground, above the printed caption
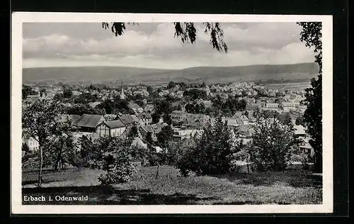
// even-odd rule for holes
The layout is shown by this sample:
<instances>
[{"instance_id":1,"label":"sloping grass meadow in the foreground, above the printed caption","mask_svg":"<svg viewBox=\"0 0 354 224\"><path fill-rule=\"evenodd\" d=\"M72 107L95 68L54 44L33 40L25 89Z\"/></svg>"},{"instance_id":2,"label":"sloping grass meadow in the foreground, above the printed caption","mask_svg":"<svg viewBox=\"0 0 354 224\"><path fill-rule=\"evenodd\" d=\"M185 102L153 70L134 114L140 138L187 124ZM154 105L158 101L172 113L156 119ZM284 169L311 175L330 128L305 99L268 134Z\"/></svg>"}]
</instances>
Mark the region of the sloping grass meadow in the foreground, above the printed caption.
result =
<instances>
[{"instance_id":1,"label":"sloping grass meadow in the foreground, above the printed caption","mask_svg":"<svg viewBox=\"0 0 354 224\"><path fill-rule=\"evenodd\" d=\"M140 167L129 183L98 186L93 169L46 171L42 188L37 172L23 172L23 196L88 196L88 201L44 201L41 204L320 204L321 176L302 170L181 177L173 167ZM38 202L23 202L38 204Z\"/></svg>"}]
</instances>

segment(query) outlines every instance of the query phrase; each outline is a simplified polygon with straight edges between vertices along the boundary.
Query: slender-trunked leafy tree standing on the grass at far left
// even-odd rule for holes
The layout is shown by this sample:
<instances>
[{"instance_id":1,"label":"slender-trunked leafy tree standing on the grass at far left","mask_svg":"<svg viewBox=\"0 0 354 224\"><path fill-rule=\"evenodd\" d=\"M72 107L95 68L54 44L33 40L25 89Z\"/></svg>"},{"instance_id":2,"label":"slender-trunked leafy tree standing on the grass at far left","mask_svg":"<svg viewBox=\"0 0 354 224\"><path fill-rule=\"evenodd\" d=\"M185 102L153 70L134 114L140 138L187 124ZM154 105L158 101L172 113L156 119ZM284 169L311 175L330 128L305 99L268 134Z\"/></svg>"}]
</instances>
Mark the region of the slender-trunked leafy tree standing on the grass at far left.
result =
<instances>
[{"instance_id":1,"label":"slender-trunked leafy tree standing on the grass at far left","mask_svg":"<svg viewBox=\"0 0 354 224\"><path fill-rule=\"evenodd\" d=\"M52 135L57 131L58 123L57 103L46 99L38 99L29 106L22 108L22 127L28 134L38 141L40 151L40 167L38 173L38 186L42 185L42 165L43 165L43 145L45 145Z\"/></svg>"}]
</instances>

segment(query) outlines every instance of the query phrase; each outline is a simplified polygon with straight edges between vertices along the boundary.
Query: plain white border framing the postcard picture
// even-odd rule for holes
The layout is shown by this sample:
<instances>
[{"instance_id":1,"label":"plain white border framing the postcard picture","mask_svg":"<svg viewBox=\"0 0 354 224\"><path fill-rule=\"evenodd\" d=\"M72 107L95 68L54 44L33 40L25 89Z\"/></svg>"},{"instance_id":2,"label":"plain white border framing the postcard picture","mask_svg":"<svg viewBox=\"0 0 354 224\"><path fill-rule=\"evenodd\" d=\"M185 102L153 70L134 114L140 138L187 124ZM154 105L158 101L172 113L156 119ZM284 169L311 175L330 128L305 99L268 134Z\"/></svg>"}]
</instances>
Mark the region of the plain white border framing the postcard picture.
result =
<instances>
[{"instance_id":1,"label":"plain white border framing the postcard picture","mask_svg":"<svg viewBox=\"0 0 354 224\"><path fill-rule=\"evenodd\" d=\"M205 22L322 22L323 45L323 203L321 205L262 206L23 206L21 205L21 86L22 23ZM36 13L12 14L11 73L11 212L21 213L332 213L333 212L333 49L332 16L231 15L162 13Z\"/></svg>"}]
</instances>

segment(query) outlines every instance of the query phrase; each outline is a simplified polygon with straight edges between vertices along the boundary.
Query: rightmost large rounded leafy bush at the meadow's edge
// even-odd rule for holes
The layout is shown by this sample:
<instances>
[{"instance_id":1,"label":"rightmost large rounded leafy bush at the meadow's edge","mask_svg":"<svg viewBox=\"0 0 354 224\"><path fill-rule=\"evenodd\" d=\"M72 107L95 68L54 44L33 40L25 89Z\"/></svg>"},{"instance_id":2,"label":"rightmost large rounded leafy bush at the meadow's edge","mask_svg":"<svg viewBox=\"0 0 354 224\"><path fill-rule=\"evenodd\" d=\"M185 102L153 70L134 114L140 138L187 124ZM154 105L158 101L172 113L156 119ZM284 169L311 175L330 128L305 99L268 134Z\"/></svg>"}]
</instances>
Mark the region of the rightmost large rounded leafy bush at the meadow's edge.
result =
<instances>
[{"instance_id":1,"label":"rightmost large rounded leafy bush at the meadow's edge","mask_svg":"<svg viewBox=\"0 0 354 224\"><path fill-rule=\"evenodd\" d=\"M292 126L278 118L258 118L252 139L252 160L259 171L284 170L299 143Z\"/></svg>"}]
</instances>

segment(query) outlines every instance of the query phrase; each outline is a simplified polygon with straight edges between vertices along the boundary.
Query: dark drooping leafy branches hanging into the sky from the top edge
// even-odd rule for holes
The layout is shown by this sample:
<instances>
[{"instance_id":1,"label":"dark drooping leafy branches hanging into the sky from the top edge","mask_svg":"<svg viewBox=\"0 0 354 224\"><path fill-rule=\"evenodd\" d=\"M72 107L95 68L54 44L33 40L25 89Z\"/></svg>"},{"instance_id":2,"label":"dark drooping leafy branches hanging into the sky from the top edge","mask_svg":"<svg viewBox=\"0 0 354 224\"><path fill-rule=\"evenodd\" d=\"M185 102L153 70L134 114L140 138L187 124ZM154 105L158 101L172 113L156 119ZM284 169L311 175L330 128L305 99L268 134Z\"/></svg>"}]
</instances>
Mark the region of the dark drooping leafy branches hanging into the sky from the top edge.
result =
<instances>
[{"instance_id":1,"label":"dark drooping leafy branches hanging into the sky from the top edge","mask_svg":"<svg viewBox=\"0 0 354 224\"><path fill-rule=\"evenodd\" d=\"M129 25L130 23L127 23ZM210 35L210 44L212 47L219 52L228 52L227 44L224 43L224 31L222 30L219 23L202 23L205 26L204 33ZM126 29L126 24L122 22L107 23L103 22L102 27L104 29L110 29L115 36L123 35ZM135 23L133 23L135 25ZM194 27L194 23L173 23L175 27L175 38L181 38L182 42L185 43L195 43L197 40L197 30Z\"/></svg>"}]
</instances>

